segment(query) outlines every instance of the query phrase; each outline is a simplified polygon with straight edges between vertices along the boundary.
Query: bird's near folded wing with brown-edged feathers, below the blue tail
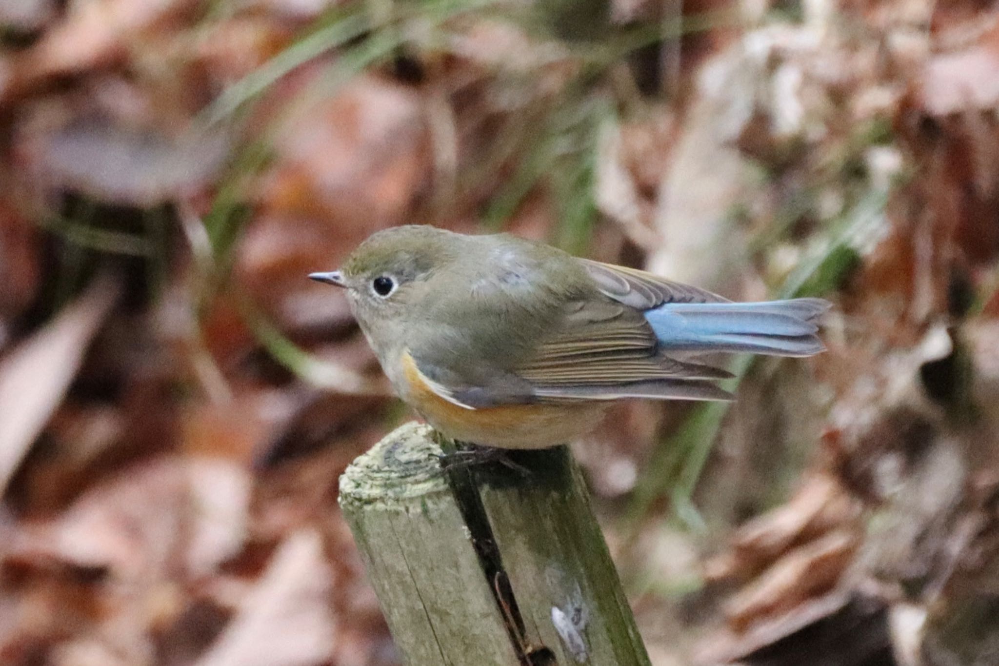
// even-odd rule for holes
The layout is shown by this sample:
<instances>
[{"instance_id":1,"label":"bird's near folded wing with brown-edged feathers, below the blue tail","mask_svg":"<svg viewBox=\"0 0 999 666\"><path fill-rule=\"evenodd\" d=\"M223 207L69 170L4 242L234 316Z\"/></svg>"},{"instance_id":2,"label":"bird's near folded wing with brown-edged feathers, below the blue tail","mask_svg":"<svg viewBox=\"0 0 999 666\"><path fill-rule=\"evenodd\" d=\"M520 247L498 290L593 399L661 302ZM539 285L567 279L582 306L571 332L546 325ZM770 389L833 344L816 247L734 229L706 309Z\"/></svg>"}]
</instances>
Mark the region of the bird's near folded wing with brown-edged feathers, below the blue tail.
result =
<instances>
[{"instance_id":1,"label":"bird's near folded wing with brown-edged feathers, below the blue tail","mask_svg":"<svg viewBox=\"0 0 999 666\"><path fill-rule=\"evenodd\" d=\"M529 356L489 376L444 370L416 359L427 385L469 408L622 397L730 399L710 382L723 369L662 355L641 313L612 301L566 305L562 322Z\"/></svg>"}]
</instances>

